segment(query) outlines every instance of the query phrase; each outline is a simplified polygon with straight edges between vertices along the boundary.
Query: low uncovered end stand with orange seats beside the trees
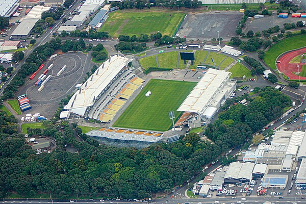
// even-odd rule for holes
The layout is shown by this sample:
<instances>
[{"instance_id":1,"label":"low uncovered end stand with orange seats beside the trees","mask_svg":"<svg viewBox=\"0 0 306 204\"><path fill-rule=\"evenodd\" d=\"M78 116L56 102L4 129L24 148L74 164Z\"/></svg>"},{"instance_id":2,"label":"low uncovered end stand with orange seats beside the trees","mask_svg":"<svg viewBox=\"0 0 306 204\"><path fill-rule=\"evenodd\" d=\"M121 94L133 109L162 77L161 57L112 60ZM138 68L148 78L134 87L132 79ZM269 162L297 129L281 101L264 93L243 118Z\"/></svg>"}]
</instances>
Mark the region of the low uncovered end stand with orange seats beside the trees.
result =
<instances>
[{"instance_id":1,"label":"low uncovered end stand with orange seats beside the trees","mask_svg":"<svg viewBox=\"0 0 306 204\"><path fill-rule=\"evenodd\" d=\"M105 145L141 149L161 142L163 133L102 128L97 131L90 131L86 135Z\"/></svg>"}]
</instances>

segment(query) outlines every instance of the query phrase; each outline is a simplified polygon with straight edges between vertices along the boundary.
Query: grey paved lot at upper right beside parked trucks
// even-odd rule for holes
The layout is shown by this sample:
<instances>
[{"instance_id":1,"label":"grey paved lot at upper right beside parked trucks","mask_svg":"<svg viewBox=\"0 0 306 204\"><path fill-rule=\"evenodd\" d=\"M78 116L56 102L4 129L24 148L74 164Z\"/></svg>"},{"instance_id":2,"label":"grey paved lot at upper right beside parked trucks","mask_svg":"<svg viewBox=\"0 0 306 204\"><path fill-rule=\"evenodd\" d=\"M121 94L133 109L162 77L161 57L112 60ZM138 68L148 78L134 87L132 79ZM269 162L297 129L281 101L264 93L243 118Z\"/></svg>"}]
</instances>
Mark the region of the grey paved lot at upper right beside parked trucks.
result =
<instances>
[{"instance_id":1,"label":"grey paved lot at upper right beside parked trucks","mask_svg":"<svg viewBox=\"0 0 306 204\"><path fill-rule=\"evenodd\" d=\"M278 25L281 29L284 28L284 23L296 23L301 20L300 18L292 18L291 15L288 18L278 18L276 14L272 14L271 16L265 15L264 18L253 18L248 19L246 21L245 29L243 29L244 33L248 31L253 31L254 33L258 31L268 30L275 25Z\"/></svg>"}]
</instances>

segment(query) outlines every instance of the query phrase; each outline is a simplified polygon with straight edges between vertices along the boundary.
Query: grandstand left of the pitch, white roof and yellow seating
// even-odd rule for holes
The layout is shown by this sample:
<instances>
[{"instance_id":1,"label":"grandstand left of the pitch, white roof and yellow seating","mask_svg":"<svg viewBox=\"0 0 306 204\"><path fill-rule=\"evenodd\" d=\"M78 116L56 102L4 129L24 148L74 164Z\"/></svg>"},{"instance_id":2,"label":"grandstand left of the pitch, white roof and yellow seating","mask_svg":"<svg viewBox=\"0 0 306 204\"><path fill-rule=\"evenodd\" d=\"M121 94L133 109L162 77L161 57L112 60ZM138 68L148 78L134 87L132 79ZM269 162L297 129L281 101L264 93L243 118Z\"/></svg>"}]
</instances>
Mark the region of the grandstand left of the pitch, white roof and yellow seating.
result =
<instances>
[{"instance_id":1,"label":"grandstand left of the pitch, white roof and yellow seating","mask_svg":"<svg viewBox=\"0 0 306 204\"><path fill-rule=\"evenodd\" d=\"M110 122L126 100L144 82L127 64L131 59L111 57L89 77L69 100L66 109L84 118Z\"/></svg>"}]
</instances>

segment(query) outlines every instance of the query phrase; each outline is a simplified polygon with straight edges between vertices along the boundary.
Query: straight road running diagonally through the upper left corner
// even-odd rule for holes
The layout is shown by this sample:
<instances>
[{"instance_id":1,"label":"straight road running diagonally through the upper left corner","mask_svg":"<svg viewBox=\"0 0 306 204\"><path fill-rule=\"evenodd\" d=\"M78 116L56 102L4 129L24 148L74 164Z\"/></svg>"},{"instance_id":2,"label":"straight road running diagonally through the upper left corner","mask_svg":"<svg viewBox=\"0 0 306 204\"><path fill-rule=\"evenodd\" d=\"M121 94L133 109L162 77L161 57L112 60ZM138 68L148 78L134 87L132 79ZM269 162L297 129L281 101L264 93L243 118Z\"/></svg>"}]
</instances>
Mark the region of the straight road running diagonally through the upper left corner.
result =
<instances>
[{"instance_id":1,"label":"straight road running diagonally through the upper left corner","mask_svg":"<svg viewBox=\"0 0 306 204\"><path fill-rule=\"evenodd\" d=\"M29 57L29 55L33 52L33 50L34 50L36 47L38 47L38 46L40 46L40 45L42 45L42 44L44 44L44 43L50 41L50 39L52 39L51 33L53 33L55 30L58 29L59 25L62 23L63 18L68 17L68 16L69 16L69 12L70 12L71 10L73 10L73 9L76 8L76 7L78 7L78 3L79 3L78 1L74 2L73 5L71 6L71 8L70 8L70 9L67 9L67 10L63 13L64 15L63 15L59 20L56 20L56 21L55 21L55 23L56 23L55 26L52 27L52 29L47 30L45 33L43 33L43 34L40 36L40 38L38 38L36 44L34 45L34 47L33 47L31 50L25 51L24 58L23 58L21 61L19 61L19 63L18 63L17 66L15 67L14 72L12 73L12 77L7 81L6 84L4 84L4 86L3 86L2 89L0 90L0 95L3 94L4 89L5 89L5 88L7 87L7 85L13 80L13 78L15 77L15 75L17 74L17 72L19 71L19 69L21 68L22 64L23 64L24 61ZM51 32L51 33L50 33L50 32Z\"/></svg>"}]
</instances>

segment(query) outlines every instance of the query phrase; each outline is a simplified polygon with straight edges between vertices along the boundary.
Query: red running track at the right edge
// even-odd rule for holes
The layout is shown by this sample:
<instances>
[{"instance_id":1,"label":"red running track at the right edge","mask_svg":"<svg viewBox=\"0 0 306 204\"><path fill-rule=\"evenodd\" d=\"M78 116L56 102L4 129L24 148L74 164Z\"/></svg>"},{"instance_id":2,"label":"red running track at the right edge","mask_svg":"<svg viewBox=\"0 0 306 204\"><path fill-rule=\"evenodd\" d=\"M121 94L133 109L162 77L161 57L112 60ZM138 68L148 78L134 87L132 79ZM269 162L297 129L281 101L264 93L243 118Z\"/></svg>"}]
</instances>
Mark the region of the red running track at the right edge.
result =
<instances>
[{"instance_id":1,"label":"red running track at the right edge","mask_svg":"<svg viewBox=\"0 0 306 204\"><path fill-rule=\"evenodd\" d=\"M295 58L298 55L302 55L306 53L306 47L301 48L295 51L292 51L283 57L279 58L277 61L277 68L279 71L283 72L289 79L291 80L298 80L298 75L295 74L295 72L298 72L297 65L299 65L299 71L302 70L302 65L306 63L289 63L293 58ZM301 80L306 80L306 77L300 77Z\"/></svg>"}]
</instances>

